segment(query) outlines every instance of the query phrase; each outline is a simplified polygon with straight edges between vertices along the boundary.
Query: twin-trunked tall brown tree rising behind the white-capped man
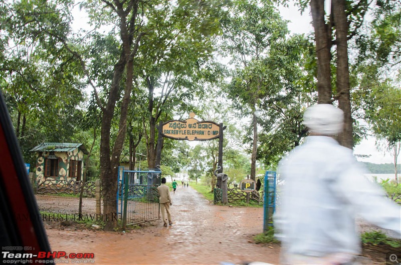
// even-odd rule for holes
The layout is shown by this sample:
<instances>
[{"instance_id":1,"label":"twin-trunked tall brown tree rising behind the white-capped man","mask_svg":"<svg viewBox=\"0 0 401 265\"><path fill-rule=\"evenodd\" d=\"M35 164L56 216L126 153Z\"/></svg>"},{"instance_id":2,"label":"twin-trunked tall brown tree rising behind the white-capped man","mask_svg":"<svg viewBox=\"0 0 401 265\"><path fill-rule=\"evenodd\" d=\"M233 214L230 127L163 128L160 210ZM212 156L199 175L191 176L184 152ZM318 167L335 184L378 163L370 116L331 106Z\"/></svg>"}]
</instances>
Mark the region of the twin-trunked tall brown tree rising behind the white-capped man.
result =
<instances>
[{"instance_id":1,"label":"twin-trunked tall brown tree rising behind the white-capped man","mask_svg":"<svg viewBox=\"0 0 401 265\"><path fill-rule=\"evenodd\" d=\"M287 0L280 2L286 3ZM344 130L339 134L341 145L353 148L353 119L351 116L348 41L358 33L368 10L367 0L299 0L302 10L310 5L316 42L318 103L338 100L344 111ZM327 10L327 12L326 12ZM335 45L335 56L331 48ZM336 73L331 65L336 65ZM333 76L335 78L333 78ZM333 83L333 79L335 83Z\"/></svg>"}]
</instances>

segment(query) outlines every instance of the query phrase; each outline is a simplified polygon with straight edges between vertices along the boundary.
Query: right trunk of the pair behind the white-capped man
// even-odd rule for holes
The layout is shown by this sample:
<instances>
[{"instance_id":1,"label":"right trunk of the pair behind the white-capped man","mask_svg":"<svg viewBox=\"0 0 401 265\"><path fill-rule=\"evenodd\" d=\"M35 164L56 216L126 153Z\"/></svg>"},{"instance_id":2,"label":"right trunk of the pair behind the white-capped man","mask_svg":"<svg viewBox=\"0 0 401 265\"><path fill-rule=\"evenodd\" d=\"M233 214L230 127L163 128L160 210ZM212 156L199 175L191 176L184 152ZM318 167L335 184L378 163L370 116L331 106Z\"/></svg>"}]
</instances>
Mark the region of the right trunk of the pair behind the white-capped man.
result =
<instances>
[{"instance_id":1,"label":"right trunk of the pair behind the white-capped man","mask_svg":"<svg viewBox=\"0 0 401 265\"><path fill-rule=\"evenodd\" d=\"M351 101L349 94L348 69L348 22L345 13L345 0L332 0L337 42L337 95L338 107L344 111L344 130L338 135L338 142L353 148L353 127Z\"/></svg>"}]
</instances>

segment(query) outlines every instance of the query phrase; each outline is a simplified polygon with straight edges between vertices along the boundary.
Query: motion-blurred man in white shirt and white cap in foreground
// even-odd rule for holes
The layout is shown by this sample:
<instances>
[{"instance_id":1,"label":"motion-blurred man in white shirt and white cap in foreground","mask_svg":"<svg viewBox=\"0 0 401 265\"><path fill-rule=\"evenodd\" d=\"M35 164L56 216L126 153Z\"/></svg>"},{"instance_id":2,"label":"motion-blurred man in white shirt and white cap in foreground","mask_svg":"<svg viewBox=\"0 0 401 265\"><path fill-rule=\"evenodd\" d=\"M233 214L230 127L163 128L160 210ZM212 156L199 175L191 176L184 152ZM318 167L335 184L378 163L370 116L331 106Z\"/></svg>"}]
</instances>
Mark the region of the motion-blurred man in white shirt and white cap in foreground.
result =
<instances>
[{"instance_id":1,"label":"motion-blurred man in white shirt and white cap in foreground","mask_svg":"<svg viewBox=\"0 0 401 265\"><path fill-rule=\"evenodd\" d=\"M280 161L284 184L274 224L284 264L353 264L360 253L355 214L401 236L400 207L331 137L343 130L343 118L330 104L308 107L303 123L310 136Z\"/></svg>"}]
</instances>

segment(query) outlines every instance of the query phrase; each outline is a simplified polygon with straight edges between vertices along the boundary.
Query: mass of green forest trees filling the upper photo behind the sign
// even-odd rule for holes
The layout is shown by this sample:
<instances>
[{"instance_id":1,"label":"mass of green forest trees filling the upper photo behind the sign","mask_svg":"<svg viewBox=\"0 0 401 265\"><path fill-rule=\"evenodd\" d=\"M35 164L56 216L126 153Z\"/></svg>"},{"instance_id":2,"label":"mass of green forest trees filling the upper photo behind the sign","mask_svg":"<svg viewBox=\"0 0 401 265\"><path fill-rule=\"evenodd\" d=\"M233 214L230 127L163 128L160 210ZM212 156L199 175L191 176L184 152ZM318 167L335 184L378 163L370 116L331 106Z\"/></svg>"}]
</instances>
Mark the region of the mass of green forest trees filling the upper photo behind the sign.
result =
<instances>
[{"instance_id":1,"label":"mass of green forest trees filling the upper photo behind the sign","mask_svg":"<svg viewBox=\"0 0 401 265\"><path fill-rule=\"evenodd\" d=\"M401 2L293 1L311 10L307 34L289 31L278 9L289 3L1 2L0 87L26 162L35 165L29 150L41 142L83 143L85 174L101 178L104 212L114 212L122 162L160 164L165 175L186 170L215 186L218 141L160 139L160 121L194 112L227 126L223 169L232 182L275 169L307 135L304 109L325 102L345 112L342 145L353 148L371 133L396 172ZM89 29L73 30L76 8Z\"/></svg>"}]
</instances>

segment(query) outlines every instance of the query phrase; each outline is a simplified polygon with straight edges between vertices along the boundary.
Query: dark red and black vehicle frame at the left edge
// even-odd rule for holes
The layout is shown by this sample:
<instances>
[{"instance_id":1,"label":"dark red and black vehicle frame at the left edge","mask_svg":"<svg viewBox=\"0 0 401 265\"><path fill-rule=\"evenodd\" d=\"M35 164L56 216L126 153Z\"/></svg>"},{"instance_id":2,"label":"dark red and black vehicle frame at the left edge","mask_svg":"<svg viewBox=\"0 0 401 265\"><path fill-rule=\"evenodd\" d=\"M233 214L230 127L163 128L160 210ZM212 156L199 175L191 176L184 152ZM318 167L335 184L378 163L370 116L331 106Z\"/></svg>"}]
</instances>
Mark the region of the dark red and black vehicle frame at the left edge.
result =
<instances>
[{"instance_id":1,"label":"dark red and black vehicle frame at the left edge","mask_svg":"<svg viewBox=\"0 0 401 265\"><path fill-rule=\"evenodd\" d=\"M50 251L36 198L0 91L0 244L2 251Z\"/></svg>"}]
</instances>

